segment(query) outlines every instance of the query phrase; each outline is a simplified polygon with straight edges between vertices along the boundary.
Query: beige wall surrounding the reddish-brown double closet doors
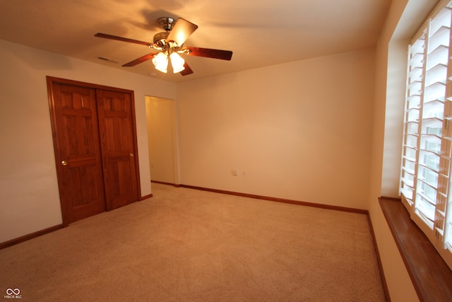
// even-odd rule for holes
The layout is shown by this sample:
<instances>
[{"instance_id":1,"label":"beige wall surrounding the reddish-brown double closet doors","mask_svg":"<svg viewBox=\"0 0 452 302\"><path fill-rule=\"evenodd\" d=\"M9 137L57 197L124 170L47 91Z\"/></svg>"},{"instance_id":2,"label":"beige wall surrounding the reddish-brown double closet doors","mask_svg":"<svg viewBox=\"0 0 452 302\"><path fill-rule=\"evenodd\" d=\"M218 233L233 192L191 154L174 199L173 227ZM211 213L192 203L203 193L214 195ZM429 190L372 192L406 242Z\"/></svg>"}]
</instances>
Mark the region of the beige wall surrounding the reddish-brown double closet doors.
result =
<instances>
[{"instance_id":1,"label":"beige wall surrounding the reddish-brown double closet doors","mask_svg":"<svg viewBox=\"0 0 452 302\"><path fill-rule=\"evenodd\" d=\"M0 242L61 223L45 76L135 91L141 194L150 194L145 95L165 81L0 40Z\"/></svg>"}]
</instances>

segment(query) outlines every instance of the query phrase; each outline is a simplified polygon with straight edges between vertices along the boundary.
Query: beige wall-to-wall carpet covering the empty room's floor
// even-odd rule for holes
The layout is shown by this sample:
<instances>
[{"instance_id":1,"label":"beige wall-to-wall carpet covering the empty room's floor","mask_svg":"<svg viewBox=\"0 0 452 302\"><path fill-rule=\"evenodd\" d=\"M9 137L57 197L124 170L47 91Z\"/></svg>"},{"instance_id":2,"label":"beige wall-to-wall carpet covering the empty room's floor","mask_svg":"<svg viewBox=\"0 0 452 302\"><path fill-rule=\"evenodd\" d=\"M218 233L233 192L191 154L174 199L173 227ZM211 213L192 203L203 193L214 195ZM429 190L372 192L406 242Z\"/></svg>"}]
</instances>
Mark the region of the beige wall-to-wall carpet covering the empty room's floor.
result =
<instances>
[{"instance_id":1,"label":"beige wall-to-wall carpet covering the empty room's floor","mask_svg":"<svg viewBox=\"0 0 452 302\"><path fill-rule=\"evenodd\" d=\"M155 183L153 194L0 250L0 298L385 301L363 214Z\"/></svg>"}]
</instances>

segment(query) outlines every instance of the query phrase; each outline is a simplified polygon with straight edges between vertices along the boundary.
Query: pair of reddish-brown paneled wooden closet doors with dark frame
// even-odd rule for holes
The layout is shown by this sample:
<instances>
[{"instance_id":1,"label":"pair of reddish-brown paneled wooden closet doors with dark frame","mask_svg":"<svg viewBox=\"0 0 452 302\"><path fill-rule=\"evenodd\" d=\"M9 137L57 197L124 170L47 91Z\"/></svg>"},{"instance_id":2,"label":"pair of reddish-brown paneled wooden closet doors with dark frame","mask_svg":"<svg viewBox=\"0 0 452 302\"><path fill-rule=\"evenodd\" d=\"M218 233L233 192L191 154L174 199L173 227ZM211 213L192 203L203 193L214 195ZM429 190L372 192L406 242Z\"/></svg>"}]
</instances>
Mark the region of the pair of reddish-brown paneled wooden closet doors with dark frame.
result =
<instances>
[{"instance_id":1,"label":"pair of reddish-brown paneled wooden closet doors with dark frame","mask_svg":"<svg viewBox=\"0 0 452 302\"><path fill-rule=\"evenodd\" d=\"M138 200L133 92L47 77L64 225Z\"/></svg>"}]
</instances>

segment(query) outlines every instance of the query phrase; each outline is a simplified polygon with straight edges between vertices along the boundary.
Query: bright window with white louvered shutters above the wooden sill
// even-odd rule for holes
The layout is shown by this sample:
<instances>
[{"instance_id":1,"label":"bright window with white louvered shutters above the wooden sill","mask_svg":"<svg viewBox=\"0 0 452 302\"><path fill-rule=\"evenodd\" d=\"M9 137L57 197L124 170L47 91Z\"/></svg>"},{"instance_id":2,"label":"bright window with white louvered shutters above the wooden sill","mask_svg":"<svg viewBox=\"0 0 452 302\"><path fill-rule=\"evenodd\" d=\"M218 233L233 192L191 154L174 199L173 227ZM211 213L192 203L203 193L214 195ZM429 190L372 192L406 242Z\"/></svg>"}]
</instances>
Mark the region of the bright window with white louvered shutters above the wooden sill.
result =
<instances>
[{"instance_id":1,"label":"bright window with white louvered shutters above the wooden sill","mask_svg":"<svg viewBox=\"0 0 452 302\"><path fill-rule=\"evenodd\" d=\"M451 8L441 1L410 43L400 194L452 268Z\"/></svg>"}]
</instances>

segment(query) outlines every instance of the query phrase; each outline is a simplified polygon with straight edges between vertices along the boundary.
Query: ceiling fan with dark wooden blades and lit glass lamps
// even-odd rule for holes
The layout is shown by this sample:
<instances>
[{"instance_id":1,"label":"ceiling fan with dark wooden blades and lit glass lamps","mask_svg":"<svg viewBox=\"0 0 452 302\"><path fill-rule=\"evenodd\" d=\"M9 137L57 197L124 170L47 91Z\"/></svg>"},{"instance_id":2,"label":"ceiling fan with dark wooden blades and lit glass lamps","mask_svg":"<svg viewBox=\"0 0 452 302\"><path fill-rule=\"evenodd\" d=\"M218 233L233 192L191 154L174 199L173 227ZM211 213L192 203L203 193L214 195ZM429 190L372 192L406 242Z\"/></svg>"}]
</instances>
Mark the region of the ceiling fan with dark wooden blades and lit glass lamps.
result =
<instances>
[{"instance_id":1,"label":"ceiling fan with dark wooden blades and lit glass lamps","mask_svg":"<svg viewBox=\"0 0 452 302\"><path fill-rule=\"evenodd\" d=\"M118 37L116 35L107 35L105 33L97 33L95 34L95 37L145 45L159 51L151 52L150 54L145 54L143 57L134 59L133 61L122 65L124 67L136 66L152 59L155 69L166 73L169 58L174 74L180 72L182 76L193 74L193 71L190 66L186 64L185 60L182 59L180 54L228 61L232 58L232 52L230 50L212 50L209 48L184 46L184 42L198 28L198 25L194 23L186 21L183 18L178 18L177 21L174 22L174 18L169 17L159 18L158 23L165 29L165 32L154 35L153 43L133 40L126 37Z\"/></svg>"}]
</instances>

